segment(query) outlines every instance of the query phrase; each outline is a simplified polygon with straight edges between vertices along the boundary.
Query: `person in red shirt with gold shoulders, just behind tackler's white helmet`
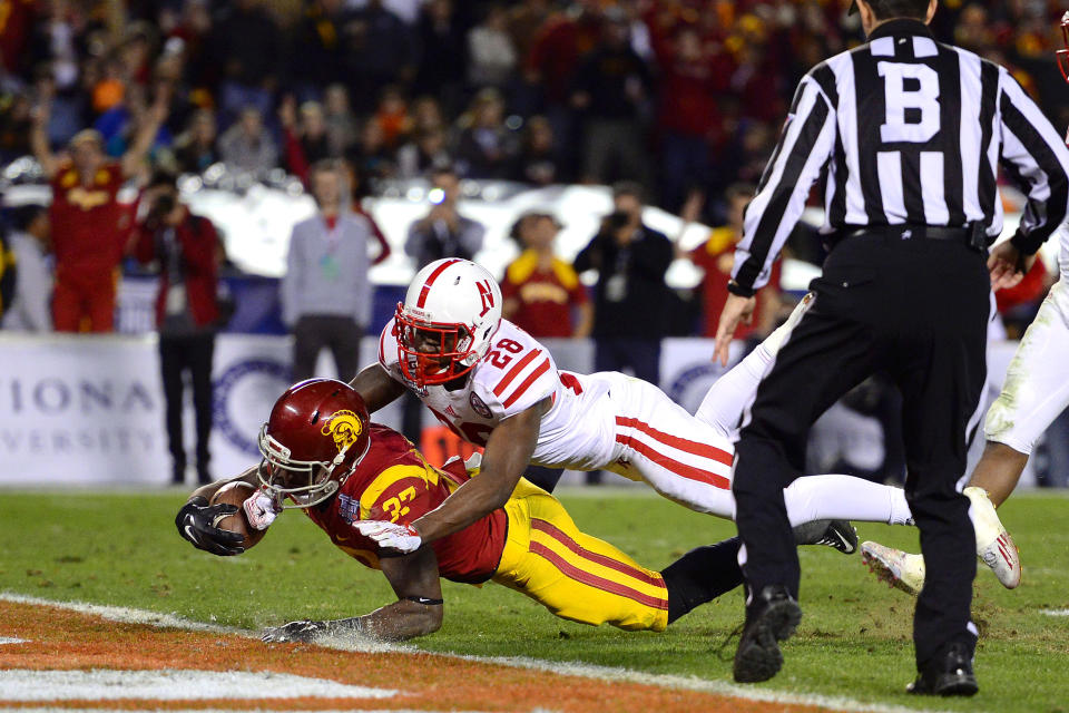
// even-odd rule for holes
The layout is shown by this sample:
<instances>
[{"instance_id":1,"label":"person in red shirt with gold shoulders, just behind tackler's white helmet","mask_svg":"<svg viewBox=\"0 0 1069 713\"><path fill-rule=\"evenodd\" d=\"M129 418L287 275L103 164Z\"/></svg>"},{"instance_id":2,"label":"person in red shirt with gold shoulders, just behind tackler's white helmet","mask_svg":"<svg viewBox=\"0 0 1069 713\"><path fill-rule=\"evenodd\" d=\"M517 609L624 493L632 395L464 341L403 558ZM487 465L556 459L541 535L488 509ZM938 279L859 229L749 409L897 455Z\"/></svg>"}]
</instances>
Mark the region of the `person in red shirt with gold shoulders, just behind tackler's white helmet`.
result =
<instances>
[{"instance_id":1,"label":"person in red shirt with gold shoulders, just behind tackler's white helmet","mask_svg":"<svg viewBox=\"0 0 1069 713\"><path fill-rule=\"evenodd\" d=\"M590 335L594 305L575 268L553 255L559 231L548 213L528 213L512 226L523 252L504 271L502 315L531 336L580 339Z\"/></svg>"}]
</instances>

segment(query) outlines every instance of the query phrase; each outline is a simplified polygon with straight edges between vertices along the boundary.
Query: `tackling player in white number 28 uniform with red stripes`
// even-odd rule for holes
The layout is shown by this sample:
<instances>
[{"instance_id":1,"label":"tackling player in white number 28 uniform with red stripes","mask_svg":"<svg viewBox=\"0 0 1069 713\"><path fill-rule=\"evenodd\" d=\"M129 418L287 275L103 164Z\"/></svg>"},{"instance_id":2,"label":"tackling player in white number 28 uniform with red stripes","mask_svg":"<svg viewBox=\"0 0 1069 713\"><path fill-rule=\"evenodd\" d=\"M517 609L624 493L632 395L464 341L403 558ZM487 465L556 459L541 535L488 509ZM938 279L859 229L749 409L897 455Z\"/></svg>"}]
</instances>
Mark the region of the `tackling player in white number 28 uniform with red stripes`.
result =
<instances>
[{"instance_id":1,"label":"tackling player in white number 28 uniform with red stripes","mask_svg":"<svg viewBox=\"0 0 1069 713\"><path fill-rule=\"evenodd\" d=\"M481 475L410 526L356 527L384 547L414 551L501 507L528 463L611 470L690 509L732 518L733 430L778 341L769 338L717 382L696 418L645 381L558 370L548 349L501 319L490 273L459 258L431 263L383 329L379 363L352 385L372 412L411 389L460 438L484 447ZM902 490L847 476L801 478L784 499L795 526L911 522Z\"/></svg>"}]
</instances>

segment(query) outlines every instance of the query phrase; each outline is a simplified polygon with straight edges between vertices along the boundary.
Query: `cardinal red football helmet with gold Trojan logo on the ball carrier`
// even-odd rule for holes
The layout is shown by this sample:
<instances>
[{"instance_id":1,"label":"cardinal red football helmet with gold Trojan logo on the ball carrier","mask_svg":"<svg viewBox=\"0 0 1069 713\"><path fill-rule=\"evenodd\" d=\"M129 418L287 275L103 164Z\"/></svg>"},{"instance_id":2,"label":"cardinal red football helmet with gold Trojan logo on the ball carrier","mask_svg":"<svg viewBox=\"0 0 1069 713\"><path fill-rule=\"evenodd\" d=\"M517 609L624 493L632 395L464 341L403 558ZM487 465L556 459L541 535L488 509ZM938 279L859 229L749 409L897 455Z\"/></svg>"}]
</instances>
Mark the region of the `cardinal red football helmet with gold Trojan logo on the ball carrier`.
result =
<instances>
[{"instance_id":1,"label":"cardinal red football helmet with gold Trojan logo on the ball carrier","mask_svg":"<svg viewBox=\"0 0 1069 713\"><path fill-rule=\"evenodd\" d=\"M308 379L290 387L259 429L261 484L283 508L323 502L367 452L370 421L364 400L347 383ZM287 497L293 505L283 502Z\"/></svg>"}]
</instances>

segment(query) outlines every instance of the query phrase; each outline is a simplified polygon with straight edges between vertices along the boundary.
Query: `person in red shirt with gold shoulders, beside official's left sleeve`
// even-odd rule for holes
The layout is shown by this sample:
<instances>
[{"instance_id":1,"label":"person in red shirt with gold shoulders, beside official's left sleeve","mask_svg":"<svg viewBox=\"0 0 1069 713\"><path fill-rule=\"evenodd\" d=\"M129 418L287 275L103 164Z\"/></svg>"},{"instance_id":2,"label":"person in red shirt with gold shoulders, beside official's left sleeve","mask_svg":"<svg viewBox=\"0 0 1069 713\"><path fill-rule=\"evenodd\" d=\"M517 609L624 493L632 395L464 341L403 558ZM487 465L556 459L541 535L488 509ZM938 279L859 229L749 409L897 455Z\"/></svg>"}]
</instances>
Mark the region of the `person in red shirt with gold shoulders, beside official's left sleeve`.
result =
<instances>
[{"instance_id":1,"label":"person in red shirt with gold shoulders, beside official's left sleeve","mask_svg":"<svg viewBox=\"0 0 1069 713\"><path fill-rule=\"evenodd\" d=\"M677 257L687 257L695 265L705 271L702 279L702 307L704 325L702 335L716 336L716 325L720 320L720 311L727 300L727 282L732 279L732 266L735 261L735 244L743 236L743 214L749 201L757 192L749 184L734 184L725 192L727 203L727 225L713 228L709 237L702 245L686 252L676 246ZM688 225L695 222L702 211L702 195L694 193L684 206L683 219ZM772 277L766 289L757 296L757 309L749 324L739 325L735 332L736 339L746 339L751 334L764 336L775 326L782 299L779 296L781 263L776 262L772 268Z\"/></svg>"}]
</instances>

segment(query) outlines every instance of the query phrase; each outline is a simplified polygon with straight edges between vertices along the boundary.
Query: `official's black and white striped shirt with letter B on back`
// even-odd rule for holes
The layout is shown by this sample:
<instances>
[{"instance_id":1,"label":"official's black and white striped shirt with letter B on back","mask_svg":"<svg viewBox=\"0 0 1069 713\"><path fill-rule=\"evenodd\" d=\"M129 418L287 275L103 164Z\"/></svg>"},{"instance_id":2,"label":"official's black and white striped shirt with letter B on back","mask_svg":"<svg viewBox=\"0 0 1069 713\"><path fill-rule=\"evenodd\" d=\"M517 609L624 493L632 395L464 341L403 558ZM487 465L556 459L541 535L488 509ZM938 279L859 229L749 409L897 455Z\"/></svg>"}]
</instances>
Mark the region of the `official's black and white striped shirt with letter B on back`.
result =
<instances>
[{"instance_id":1,"label":"official's black and white striped shirt with letter B on back","mask_svg":"<svg viewBox=\"0 0 1069 713\"><path fill-rule=\"evenodd\" d=\"M1002 232L999 163L1028 194L1013 241L1034 253L1069 208L1069 149L1058 131L1004 68L934 41L920 21L881 25L867 45L798 84L746 209L736 290L767 282L825 166L824 234L979 221L990 242Z\"/></svg>"}]
</instances>

